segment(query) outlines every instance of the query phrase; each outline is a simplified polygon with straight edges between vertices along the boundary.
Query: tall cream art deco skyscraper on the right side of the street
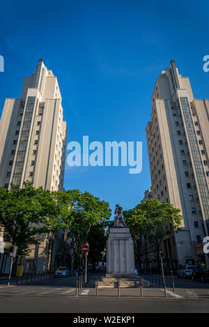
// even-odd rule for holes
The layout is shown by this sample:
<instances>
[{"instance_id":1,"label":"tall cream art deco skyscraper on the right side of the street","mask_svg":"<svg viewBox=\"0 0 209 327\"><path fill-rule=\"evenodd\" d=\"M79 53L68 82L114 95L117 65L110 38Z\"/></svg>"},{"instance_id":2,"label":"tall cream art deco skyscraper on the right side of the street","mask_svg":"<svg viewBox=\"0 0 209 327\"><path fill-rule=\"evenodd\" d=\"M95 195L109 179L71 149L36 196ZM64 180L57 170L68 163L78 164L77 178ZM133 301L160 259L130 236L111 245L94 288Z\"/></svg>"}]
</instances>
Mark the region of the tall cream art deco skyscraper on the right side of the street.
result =
<instances>
[{"instance_id":1,"label":"tall cream art deco skyscraper on the right side of the street","mask_svg":"<svg viewBox=\"0 0 209 327\"><path fill-rule=\"evenodd\" d=\"M175 62L157 78L146 127L153 198L180 208L182 228L164 239L164 257L186 264L206 261L209 234L209 103L194 99L189 78Z\"/></svg>"}]
</instances>

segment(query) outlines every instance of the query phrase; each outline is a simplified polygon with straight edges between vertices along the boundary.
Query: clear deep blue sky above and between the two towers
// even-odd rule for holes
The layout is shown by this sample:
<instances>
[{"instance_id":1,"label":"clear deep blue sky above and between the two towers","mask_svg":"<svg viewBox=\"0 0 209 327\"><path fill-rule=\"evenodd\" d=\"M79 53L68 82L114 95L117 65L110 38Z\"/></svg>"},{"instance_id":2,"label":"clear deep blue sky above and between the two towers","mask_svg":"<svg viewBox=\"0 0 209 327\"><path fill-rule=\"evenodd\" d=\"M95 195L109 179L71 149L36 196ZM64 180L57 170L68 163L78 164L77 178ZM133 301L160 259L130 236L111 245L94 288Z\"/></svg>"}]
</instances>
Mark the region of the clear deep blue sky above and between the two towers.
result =
<instances>
[{"instance_id":1,"label":"clear deep blue sky above and between the two towers","mask_svg":"<svg viewBox=\"0 0 209 327\"><path fill-rule=\"evenodd\" d=\"M68 142L141 141L143 169L65 165L65 189L79 188L123 209L150 186L146 124L157 76L176 61L194 97L208 98L203 72L208 47L208 1L7 1L1 3L0 114L19 98L38 59L57 76ZM68 155L68 153L67 153Z\"/></svg>"}]
</instances>

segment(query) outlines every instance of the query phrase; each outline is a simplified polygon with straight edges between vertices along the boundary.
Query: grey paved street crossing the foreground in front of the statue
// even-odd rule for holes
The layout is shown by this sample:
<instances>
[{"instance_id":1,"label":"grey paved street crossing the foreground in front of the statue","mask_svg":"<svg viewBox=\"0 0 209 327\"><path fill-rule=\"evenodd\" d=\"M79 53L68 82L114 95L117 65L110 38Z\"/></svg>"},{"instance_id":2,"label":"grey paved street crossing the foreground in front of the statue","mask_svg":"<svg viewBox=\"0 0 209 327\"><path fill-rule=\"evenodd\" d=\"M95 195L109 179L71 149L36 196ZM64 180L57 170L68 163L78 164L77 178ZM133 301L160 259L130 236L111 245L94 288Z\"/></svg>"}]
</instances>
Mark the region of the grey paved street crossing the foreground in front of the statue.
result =
<instances>
[{"instance_id":1,"label":"grey paved street crossing the foreground in front of the statue","mask_svg":"<svg viewBox=\"0 0 209 327\"><path fill-rule=\"evenodd\" d=\"M75 297L75 277L37 280L29 284L0 284L0 312L209 312L209 282L193 282L174 277L176 291L167 279L167 298L162 286L99 289L96 298L95 277L89 276L81 296Z\"/></svg>"}]
</instances>

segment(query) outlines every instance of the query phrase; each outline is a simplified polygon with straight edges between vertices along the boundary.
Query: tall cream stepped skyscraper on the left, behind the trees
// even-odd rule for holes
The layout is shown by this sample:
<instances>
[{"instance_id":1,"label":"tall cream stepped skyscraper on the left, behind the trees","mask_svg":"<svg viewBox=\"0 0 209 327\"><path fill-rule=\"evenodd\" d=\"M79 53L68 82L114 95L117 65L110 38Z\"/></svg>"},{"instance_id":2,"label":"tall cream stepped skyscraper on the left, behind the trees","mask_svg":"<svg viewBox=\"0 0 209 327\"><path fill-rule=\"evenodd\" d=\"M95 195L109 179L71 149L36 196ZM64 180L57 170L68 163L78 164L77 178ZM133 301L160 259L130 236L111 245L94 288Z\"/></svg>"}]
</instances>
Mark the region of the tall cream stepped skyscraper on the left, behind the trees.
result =
<instances>
[{"instance_id":1,"label":"tall cream stepped skyscraper on the left, behind the trees","mask_svg":"<svg viewBox=\"0 0 209 327\"><path fill-rule=\"evenodd\" d=\"M35 188L63 190L67 127L61 101L56 77L39 59L36 73L24 77L20 98L6 98L3 107L0 121L1 187L10 189L10 183L13 183L22 188L24 181L31 181ZM39 248L33 247L31 252L29 260L36 260L39 271L49 266L46 260L52 261L49 243L44 238ZM34 266L32 261L29 264Z\"/></svg>"}]
</instances>

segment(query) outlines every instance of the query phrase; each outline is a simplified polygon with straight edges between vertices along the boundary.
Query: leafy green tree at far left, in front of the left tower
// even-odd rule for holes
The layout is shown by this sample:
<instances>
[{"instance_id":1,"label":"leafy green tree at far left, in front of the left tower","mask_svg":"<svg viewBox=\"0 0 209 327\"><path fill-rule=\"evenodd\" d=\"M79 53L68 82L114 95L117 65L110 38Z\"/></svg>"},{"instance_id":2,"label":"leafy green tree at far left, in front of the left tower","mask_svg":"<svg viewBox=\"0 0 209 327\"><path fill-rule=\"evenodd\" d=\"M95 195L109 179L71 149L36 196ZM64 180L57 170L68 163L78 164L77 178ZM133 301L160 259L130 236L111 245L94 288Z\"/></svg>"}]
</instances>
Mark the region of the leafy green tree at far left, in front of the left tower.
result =
<instances>
[{"instance_id":1,"label":"leafy green tree at far left, in front of the left tower","mask_svg":"<svg viewBox=\"0 0 209 327\"><path fill-rule=\"evenodd\" d=\"M54 232L59 227L59 207L49 190L33 188L25 182L23 188L11 185L0 188L0 227L11 248L18 247L17 256L26 257L29 245L38 243L38 234Z\"/></svg>"}]
</instances>

